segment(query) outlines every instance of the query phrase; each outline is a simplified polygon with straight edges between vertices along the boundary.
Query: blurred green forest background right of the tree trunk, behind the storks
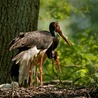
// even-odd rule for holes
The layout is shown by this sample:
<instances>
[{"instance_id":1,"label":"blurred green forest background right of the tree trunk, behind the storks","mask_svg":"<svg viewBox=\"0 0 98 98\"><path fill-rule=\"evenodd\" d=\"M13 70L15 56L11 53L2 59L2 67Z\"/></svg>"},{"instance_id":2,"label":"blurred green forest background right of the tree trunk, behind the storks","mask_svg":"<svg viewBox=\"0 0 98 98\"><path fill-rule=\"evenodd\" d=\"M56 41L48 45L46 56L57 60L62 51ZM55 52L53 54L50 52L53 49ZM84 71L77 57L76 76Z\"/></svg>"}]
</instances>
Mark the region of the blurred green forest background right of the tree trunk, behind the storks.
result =
<instances>
[{"instance_id":1,"label":"blurred green forest background right of the tree trunk, behind the storks","mask_svg":"<svg viewBox=\"0 0 98 98\"><path fill-rule=\"evenodd\" d=\"M40 0L38 29L47 30L52 21L59 22L72 46L60 40L57 51L62 72L47 59L43 80L98 86L98 0Z\"/></svg>"}]
</instances>

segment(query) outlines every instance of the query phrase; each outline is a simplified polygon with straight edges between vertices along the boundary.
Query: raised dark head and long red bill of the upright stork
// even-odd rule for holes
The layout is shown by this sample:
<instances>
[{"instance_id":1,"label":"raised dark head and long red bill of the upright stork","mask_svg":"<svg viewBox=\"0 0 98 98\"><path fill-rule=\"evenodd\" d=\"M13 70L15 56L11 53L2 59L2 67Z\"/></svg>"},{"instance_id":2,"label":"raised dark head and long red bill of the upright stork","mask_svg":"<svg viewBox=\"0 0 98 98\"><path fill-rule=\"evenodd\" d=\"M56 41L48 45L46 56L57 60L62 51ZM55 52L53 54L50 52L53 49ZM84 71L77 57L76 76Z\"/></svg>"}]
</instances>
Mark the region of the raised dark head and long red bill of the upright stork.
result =
<instances>
[{"instance_id":1,"label":"raised dark head and long red bill of the upright stork","mask_svg":"<svg viewBox=\"0 0 98 98\"><path fill-rule=\"evenodd\" d=\"M50 29L50 32L52 33L53 36L55 36L54 33L57 32L68 45L71 45L69 43L69 41L66 39L65 35L62 33L58 22L51 22L49 29ZM53 32L53 31L55 31L55 32Z\"/></svg>"}]
</instances>

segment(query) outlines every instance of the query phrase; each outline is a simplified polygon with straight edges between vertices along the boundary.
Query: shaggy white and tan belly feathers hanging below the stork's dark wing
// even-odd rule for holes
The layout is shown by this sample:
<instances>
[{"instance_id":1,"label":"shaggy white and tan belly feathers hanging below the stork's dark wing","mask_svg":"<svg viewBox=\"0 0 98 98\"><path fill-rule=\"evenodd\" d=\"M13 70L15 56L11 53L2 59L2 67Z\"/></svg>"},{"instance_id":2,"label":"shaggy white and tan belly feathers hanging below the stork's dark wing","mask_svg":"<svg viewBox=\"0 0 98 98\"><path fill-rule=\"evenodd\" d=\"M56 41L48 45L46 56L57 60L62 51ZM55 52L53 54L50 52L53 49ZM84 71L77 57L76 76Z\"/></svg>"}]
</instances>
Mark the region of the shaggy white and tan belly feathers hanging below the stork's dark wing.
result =
<instances>
[{"instance_id":1,"label":"shaggy white and tan belly feathers hanging below the stork's dark wing","mask_svg":"<svg viewBox=\"0 0 98 98\"><path fill-rule=\"evenodd\" d=\"M29 70L32 74L35 73L35 68L38 65L41 57L45 55L47 49L38 50L35 47L28 50L22 51L17 54L12 61L16 61L16 64L20 64L19 67L19 84L24 84L24 81L28 83L29 81Z\"/></svg>"}]
</instances>

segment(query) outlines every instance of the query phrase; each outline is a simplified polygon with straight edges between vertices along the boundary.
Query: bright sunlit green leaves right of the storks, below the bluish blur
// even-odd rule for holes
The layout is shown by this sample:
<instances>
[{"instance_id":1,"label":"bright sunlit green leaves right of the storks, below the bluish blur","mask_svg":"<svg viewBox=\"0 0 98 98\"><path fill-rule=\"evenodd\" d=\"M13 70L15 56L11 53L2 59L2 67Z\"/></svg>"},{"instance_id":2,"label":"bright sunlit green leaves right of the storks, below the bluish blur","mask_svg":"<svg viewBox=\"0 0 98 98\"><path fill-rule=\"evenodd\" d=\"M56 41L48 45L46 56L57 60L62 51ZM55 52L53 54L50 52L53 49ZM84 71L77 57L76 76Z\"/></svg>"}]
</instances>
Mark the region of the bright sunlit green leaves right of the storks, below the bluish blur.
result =
<instances>
[{"instance_id":1,"label":"bright sunlit green leaves right of the storks, below the bluish blur","mask_svg":"<svg viewBox=\"0 0 98 98\"><path fill-rule=\"evenodd\" d=\"M72 73L68 78L72 81L79 78L76 83L83 85L89 82L98 83L98 45L94 39L96 36L89 36L89 33L83 32L83 34L74 36L78 38L78 41L70 49L68 46L66 48L58 48L61 52L61 65L65 66L62 70ZM61 44L64 47L64 43L62 42ZM66 70L66 67L69 67L69 70Z\"/></svg>"}]
</instances>

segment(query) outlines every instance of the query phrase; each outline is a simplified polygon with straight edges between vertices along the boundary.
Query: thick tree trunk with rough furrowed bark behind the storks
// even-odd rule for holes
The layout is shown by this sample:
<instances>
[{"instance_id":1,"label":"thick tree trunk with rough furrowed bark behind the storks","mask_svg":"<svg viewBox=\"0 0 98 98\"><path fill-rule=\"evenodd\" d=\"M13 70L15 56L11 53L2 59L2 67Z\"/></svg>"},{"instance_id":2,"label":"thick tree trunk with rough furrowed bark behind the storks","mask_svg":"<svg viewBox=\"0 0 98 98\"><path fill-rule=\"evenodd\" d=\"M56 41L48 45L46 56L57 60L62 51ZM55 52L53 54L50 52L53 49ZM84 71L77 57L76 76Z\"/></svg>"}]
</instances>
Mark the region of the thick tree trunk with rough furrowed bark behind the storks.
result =
<instances>
[{"instance_id":1,"label":"thick tree trunk with rough furrowed bark behind the storks","mask_svg":"<svg viewBox=\"0 0 98 98\"><path fill-rule=\"evenodd\" d=\"M9 82L14 52L10 41L20 32L37 29L39 0L0 0L0 84Z\"/></svg>"}]
</instances>

